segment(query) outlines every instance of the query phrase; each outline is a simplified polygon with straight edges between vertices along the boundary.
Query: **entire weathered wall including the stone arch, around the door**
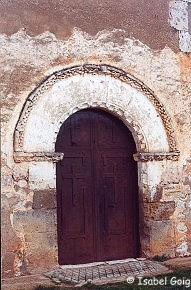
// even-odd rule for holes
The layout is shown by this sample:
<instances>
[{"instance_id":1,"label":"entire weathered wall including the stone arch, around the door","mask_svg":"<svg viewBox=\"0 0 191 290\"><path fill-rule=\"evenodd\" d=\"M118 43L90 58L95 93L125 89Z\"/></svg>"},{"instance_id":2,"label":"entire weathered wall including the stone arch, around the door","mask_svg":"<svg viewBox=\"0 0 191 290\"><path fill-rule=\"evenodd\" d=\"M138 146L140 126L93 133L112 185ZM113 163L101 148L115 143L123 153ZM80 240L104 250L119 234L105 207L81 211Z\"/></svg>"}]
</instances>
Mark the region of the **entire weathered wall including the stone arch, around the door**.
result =
<instances>
[{"instance_id":1,"label":"entire weathered wall including the stone arch, around the door","mask_svg":"<svg viewBox=\"0 0 191 290\"><path fill-rule=\"evenodd\" d=\"M54 144L88 107L118 116L135 139L141 256L190 255L190 6L1 1L4 277L58 264Z\"/></svg>"}]
</instances>

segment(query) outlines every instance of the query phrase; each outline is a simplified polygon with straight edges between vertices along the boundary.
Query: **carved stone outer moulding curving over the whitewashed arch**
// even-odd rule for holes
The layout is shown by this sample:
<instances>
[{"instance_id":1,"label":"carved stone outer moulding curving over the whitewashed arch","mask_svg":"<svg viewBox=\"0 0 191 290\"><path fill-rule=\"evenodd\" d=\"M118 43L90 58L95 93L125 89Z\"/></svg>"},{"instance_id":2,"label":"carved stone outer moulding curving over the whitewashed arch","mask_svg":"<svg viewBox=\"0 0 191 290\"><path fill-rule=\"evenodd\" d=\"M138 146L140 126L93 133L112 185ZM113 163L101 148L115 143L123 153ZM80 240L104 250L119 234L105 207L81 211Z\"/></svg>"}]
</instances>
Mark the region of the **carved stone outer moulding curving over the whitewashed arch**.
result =
<instances>
[{"instance_id":1,"label":"carved stone outer moulding curving over the whitewashed arch","mask_svg":"<svg viewBox=\"0 0 191 290\"><path fill-rule=\"evenodd\" d=\"M155 96L154 92L150 90L147 86L145 86L141 81L133 77L132 75L126 73L125 71L118 69L116 67L102 64L84 64L80 66L69 67L57 72L54 72L52 75L48 76L47 79L43 80L41 84L28 96L23 110L21 112L20 118L15 128L14 132L14 151L22 152L23 151L23 141L24 141L24 130L25 125L27 123L29 114L34 105L36 105L38 99L50 89L57 81L69 78L75 75L108 75L113 78L119 79L122 82L129 84L130 86L136 88L141 91L143 94L147 96L147 98L154 105L156 111L160 115L164 128L167 134L168 143L169 143L169 151L177 152L176 140L174 136L174 131L171 125L170 117L167 115L164 106L160 103L160 101ZM33 156L34 158L34 156ZM42 158L42 157L40 157Z\"/></svg>"}]
</instances>

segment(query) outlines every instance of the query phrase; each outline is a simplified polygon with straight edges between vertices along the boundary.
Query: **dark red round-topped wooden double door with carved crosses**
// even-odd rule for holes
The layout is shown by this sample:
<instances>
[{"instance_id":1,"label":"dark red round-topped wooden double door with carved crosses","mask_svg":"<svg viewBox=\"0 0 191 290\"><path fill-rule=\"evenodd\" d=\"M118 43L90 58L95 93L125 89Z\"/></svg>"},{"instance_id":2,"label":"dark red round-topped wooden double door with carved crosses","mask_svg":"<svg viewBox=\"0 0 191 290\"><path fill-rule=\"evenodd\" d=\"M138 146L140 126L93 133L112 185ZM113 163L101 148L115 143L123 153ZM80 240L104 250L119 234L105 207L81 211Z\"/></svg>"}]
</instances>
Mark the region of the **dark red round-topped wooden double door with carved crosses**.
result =
<instances>
[{"instance_id":1,"label":"dark red round-topped wooden double door with carved crosses","mask_svg":"<svg viewBox=\"0 0 191 290\"><path fill-rule=\"evenodd\" d=\"M86 109L61 126L56 151L60 264L137 257L135 143L114 116Z\"/></svg>"}]
</instances>

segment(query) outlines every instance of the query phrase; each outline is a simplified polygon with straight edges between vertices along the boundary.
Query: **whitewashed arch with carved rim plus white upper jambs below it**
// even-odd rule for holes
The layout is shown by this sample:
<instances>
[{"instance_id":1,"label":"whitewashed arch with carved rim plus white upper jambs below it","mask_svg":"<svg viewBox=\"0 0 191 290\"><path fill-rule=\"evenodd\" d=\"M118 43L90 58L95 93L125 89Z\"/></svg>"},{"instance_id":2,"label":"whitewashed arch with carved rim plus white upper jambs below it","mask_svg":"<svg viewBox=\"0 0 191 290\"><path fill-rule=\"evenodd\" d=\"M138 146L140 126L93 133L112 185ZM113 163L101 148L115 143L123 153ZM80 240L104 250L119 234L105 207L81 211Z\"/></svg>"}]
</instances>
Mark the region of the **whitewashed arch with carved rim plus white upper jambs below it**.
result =
<instances>
[{"instance_id":1,"label":"whitewashed arch with carved rim plus white upper jambs below it","mask_svg":"<svg viewBox=\"0 0 191 290\"><path fill-rule=\"evenodd\" d=\"M108 70L115 74L107 74ZM27 98L15 128L14 158L27 162L29 189L56 189L54 162L63 158L55 152L59 129L70 115L90 107L110 112L131 130L137 147L140 207L154 201L163 175L176 167L179 157L170 118L143 83L106 65L56 72ZM171 184L170 177L167 183Z\"/></svg>"}]
</instances>

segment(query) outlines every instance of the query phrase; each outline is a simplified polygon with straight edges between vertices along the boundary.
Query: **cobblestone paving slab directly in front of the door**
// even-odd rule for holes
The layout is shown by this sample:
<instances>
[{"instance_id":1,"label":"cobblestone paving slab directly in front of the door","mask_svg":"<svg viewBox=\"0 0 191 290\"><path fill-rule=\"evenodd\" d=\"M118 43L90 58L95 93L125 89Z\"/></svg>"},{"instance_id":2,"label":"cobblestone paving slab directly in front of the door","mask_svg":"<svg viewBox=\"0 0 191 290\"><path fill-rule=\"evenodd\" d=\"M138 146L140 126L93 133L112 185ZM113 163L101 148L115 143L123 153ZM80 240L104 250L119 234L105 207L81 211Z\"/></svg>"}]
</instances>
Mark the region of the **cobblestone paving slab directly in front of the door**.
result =
<instances>
[{"instance_id":1,"label":"cobblestone paving slab directly in front of the door","mask_svg":"<svg viewBox=\"0 0 191 290\"><path fill-rule=\"evenodd\" d=\"M60 266L45 273L55 283L104 282L126 280L129 276L151 276L168 272L168 268L158 262L139 259L127 259L116 262L92 263L77 266Z\"/></svg>"}]
</instances>

